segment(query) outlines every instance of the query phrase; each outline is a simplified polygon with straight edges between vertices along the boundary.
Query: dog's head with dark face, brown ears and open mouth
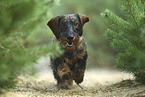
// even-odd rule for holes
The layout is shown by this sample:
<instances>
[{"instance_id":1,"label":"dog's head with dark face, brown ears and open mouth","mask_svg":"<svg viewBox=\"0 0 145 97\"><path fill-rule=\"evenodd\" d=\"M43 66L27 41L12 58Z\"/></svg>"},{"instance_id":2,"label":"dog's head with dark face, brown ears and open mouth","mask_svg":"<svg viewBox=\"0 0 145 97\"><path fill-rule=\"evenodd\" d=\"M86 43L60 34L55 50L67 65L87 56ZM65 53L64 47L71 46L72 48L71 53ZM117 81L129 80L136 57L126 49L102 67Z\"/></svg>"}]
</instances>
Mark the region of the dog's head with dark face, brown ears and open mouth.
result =
<instances>
[{"instance_id":1,"label":"dog's head with dark face, brown ears and open mouth","mask_svg":"<svg viewBox=\"0 0 145 97\"><path fill-rule=\"evenodd\" d=\"M72 51L78 45L79 37L83 34L83 25L89 21L82 14L59 15L50 19L47 25L66 51Z\"/></svg>"}]
</instances>

